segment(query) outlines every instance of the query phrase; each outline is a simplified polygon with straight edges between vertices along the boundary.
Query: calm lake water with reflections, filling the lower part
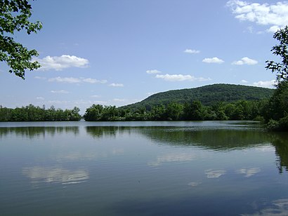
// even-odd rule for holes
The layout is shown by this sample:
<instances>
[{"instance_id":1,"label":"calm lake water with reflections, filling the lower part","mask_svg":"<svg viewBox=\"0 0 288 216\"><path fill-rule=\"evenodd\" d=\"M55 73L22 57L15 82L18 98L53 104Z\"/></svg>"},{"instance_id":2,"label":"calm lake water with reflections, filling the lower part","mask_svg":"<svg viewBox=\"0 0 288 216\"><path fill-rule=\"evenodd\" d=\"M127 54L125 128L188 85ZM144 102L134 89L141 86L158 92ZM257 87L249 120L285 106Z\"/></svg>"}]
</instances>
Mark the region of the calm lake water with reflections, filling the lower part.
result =
<instances>
[{"instance_id":1,"label":"calm lake water with reflections, filling the lower part","mask_svg":"<svg viewBox=\"0 0 288 216\"><path fill-rule=\"evenodd\" d=\"M288 215L287 170L253 122L0 123L0 215Z\"/></svg>"}]
</instances>

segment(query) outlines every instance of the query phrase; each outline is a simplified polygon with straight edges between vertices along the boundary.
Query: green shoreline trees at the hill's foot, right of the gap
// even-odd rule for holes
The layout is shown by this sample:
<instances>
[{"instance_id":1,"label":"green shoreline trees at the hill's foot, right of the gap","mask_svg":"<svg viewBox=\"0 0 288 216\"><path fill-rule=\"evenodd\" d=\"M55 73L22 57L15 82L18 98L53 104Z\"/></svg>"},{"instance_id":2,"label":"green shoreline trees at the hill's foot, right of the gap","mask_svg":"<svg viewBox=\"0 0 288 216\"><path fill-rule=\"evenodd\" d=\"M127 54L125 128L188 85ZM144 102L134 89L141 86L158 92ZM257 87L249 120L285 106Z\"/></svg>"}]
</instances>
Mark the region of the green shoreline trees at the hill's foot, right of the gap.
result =
<instances>
[{"instance_id":1,"label":"green shoreline trees at the hill's foot, right of the gap","mask_svg":"<svg viewBox=\"0 0 288 216\"><path fill-rule=\"evenodd\" d=\"M130 109L93 104L86 109L85 121L202 121L263 120L268 100L217 102L204 106L199 100L184 104L171 102L151 107Z\"/></svg>"}]
</instances>

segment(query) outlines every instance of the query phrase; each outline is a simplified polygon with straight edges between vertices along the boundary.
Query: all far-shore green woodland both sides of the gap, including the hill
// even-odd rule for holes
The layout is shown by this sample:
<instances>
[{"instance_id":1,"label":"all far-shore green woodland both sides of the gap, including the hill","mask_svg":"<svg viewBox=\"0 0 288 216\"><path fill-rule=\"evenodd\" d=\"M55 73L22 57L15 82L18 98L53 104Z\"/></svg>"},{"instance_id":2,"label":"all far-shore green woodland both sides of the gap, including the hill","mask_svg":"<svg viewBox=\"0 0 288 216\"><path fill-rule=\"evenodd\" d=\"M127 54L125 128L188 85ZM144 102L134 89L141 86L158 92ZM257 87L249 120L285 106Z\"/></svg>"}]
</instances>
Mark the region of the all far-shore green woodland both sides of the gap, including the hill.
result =
<instances>
[{"instance_id":1,"label":"all far-shore green woodland both sides of the gap, including the hill","mask_svg":"<svg viewBox=\"0 0 288 216\"><path fill-rule=\"evenodd\" d=\"M274 90L252 86L215 84L170 90L124 107L93 104L85 121L202 121L263 120L268 118ZM0 107L0 121L79 121L79 108Z\"/></svg>"}]
</instances>

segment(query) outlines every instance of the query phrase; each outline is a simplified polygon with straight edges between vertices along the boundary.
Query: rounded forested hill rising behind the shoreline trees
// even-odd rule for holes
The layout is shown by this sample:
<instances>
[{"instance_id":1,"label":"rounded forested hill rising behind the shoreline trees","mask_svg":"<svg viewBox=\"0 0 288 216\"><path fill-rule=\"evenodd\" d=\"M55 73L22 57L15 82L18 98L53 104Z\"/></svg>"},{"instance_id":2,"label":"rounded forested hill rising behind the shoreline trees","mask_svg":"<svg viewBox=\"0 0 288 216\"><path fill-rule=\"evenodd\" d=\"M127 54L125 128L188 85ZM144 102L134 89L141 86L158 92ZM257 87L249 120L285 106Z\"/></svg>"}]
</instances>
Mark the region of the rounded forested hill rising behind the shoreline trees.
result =
<instances>
[{"instance_id":1,"label":"rounded forested hill rising behind the shoreline trees","mask_svg":"<svg viewBox=\"0 0 288 216\"><path fill-rule=\"evenodd\" d=\"M138 109L138 107L151 107L170 102L185 103L199 100L204 105L212 105L216 102L235 102L237 100L261 100L270 98L273 89L255 86L242 86L233 84L214 84L198 88L185 88L181 90L169 90L156 93L141 102L129 104L125 108Z\"/></svg>"}]
</instances>

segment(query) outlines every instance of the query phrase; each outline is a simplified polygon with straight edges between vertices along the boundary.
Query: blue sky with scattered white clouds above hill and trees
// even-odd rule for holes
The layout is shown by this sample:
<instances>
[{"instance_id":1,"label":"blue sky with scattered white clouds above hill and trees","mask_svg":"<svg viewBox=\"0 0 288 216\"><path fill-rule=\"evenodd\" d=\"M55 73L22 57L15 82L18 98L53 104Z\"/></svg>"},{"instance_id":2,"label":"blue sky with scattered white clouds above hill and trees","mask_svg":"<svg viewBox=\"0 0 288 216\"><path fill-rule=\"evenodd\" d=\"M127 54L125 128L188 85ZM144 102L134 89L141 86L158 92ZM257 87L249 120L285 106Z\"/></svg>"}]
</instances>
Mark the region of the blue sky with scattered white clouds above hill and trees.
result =
<instances>
[{"instance_id":1,"label":"blue sky with scattered white clouds above hill and trees","mask_svg":"<svg viewBox=\"0 0 288 216\"><path fill-rule=\"evenodd\" d=\"M153 93L213 83L273 87L266 60L288 25L285 1L37 0L39 51L25 80L0 62L0 104L71 109L131 104Z\"/></svg>"}]
</instances>

